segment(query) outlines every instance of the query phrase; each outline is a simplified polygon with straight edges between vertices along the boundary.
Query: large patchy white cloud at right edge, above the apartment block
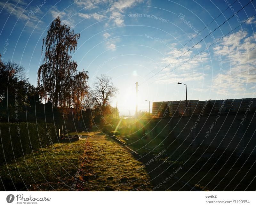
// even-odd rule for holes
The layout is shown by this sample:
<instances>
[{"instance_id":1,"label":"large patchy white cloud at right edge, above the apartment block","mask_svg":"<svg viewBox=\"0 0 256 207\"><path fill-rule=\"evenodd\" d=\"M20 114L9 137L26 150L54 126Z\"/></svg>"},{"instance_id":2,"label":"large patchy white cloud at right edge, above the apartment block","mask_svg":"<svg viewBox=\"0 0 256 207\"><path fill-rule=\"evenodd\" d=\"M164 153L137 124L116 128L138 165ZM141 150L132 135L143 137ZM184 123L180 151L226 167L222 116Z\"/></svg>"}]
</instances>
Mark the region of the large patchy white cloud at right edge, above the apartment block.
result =
<instances>
[{"instance_id":1,"label":"large patchy white cloud at right edge, above the apartment block","mask_svg":"<svg viewBox=\"0 0 256 207\"><path fill-rule=\"evenodd\" d=\"M214 54L215 56L219 54L222 62L227 63L227 66L223 67L222 73L213 78L212 89L227 94L243 91L247 84L255 83L255 51L255 34L248 36L246 31L240 30L222 40L219 47L215 48Z\"/></svg>"}]
</instances>

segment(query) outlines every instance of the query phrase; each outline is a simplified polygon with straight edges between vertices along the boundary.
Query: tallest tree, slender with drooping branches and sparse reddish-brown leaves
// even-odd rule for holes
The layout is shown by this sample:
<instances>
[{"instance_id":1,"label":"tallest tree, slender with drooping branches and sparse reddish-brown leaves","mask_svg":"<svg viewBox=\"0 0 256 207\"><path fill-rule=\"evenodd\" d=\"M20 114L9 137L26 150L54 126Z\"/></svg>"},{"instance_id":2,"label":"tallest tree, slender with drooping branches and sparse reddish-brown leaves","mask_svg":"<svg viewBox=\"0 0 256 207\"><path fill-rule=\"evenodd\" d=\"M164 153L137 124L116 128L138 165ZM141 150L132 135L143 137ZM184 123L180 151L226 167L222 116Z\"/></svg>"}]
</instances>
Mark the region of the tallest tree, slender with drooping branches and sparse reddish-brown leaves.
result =
<instances>
[{"instance_id":1,"label":"tallest tree, slender with drooping branches and sparse reddish-brown leaves","mask_svg":"<svg viewBox=\"0 0 256 207\"><path fill-rule=\"evenodd\" d=\"M44 64L38 70L37 84L41 100L51 100L55 107L64 104L61 98L66 100L70 94L71 79L77 67L70 54L75 52L79 37L80 34L70 31L57 17L43 39Z\"/></svg>"}]
</instances>

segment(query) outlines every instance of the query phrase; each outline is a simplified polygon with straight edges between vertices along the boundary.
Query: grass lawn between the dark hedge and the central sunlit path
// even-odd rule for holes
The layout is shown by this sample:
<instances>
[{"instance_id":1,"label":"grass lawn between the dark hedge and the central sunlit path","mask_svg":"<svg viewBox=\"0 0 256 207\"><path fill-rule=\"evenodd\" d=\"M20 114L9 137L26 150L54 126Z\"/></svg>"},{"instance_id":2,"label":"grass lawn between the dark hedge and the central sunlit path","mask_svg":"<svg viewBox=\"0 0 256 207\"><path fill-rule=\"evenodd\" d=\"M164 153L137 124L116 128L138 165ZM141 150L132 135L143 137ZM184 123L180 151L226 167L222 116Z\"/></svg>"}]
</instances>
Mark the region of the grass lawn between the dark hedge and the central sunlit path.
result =
<instances>
[{"instance_id":1,"label":"grass lawn between the dark hedge and the central sunlit path","mask_svg":"<svg viewBox=\"0 0 256 207\"><path fill-rule=\"evenodd\" d=\"M86 140L57 143L0 166L1 190L65 191L83 159ZM14 185L15 187L14 187Z\"/></svg>"}]
</instances>

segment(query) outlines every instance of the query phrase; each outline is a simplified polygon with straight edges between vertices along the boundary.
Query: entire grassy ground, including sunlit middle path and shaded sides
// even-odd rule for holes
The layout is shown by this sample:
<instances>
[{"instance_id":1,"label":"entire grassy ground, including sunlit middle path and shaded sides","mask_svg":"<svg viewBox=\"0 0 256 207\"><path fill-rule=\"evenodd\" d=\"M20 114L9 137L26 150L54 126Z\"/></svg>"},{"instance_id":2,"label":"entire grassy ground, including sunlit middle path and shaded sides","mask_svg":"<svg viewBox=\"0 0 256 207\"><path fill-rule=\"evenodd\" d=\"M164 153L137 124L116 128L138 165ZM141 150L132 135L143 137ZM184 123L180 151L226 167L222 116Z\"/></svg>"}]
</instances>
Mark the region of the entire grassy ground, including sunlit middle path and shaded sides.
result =
<instances>
[{"instance_id":1,"label":"entire grassy ground, including sunlit middle path and shaded sides","mask_svg":"<svg viewBox=\"0 0 256 207\"><path fill-rule=\"evenodd\" d=\"M78 134L88 135L87 132ZM157 139L150 142L148 138L136 142L135 136L125 137L128 140L117 138L129 143L133 150L143 146L153 149L160 143ZM255 190L255 157L244 162L244 158L237 159L231 153L220 157L220 151L207 151L201 157L204 149L195 151L193 147L187 149L187 146L174 143L169 148L159 145L151 152L138 150L141 155L150 153L137 160L127 149L94 128L87 140L65 140L65 143L18 158L17 164L0 165L1 181L4 183L3 186L0 182L0 190L64 191L70 190L70 186L76 183L75 190L79 191L151 191L175 171L172 179L155 190L189 191L193 187L204 191ZM146 164L163 149L166 149L164 153ZM177 171L180 166L182 169ZM78 181L75 182L74 176L80 168Z\"/></svg>"}]
</instances>

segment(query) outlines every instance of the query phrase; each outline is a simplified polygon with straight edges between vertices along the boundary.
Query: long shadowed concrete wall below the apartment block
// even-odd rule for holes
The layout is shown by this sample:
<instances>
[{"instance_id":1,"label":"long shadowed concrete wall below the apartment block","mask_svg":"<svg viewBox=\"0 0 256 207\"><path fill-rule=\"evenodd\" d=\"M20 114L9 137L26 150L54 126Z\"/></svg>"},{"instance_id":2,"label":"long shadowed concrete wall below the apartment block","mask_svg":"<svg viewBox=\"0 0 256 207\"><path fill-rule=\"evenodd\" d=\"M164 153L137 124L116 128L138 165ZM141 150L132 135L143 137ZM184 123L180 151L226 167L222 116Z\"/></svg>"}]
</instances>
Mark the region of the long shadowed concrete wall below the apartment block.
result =
<instances>
[{"instance_id":1,"label":"long shadowed concrete wall below the apartment block","mask_svg":"<svg viewBox=\"0 0 256 207\"><path fill-rule=\"evenodd\" d=\"M115 122L115 121L114 121ZM114 123L115 124L115 123ZM155 119L124 119L120 126L130 125L140 128L150 139L160 137L168 142L186 141L193 146L226 149L240 155L256 154L255 111L222 112L182 117ZM138 137L139 138L139 137Z\"/></svg>"}]
</instances>

